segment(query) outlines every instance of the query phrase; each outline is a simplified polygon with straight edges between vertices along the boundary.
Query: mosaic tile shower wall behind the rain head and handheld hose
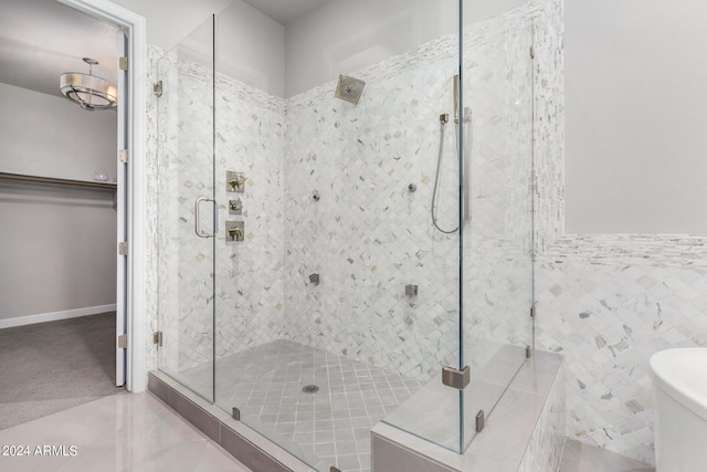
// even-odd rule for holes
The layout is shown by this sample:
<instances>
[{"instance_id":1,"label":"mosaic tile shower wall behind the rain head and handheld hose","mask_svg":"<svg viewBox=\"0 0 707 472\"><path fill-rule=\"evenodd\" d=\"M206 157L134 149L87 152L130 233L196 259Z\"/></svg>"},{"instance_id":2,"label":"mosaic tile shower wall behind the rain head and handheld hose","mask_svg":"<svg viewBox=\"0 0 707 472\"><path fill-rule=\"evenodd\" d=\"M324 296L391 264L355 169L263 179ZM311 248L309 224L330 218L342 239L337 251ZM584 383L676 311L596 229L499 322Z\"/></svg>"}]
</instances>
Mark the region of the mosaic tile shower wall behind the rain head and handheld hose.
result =
<instances>
[{"instance_id":1,"label":"mosaic tile shower wall behind the rain head and handheld hose","mask_svg":"<svg viewBox=\"0 0 707 472\"><path fill-rule=\"evenodd\" d=\"M458 355L458 234L437 232L430 217L439 115L452 106L454 43L449 38L409 54L429 61L397 57L402 71L389 61L360 71L367 85L356 106L334 98L335 84L291 99L289 339L421 380ZM392 71L400 73L386 77ZM452 153L453 137L445 133ZM440 222L449 227L457 203L444 190L455 189L456 162L444 157ZM409 191L410 183L416 191ZM312 273L320 275L319 285L309 283ZM405 284L418 285L419 295L408 297Z\"/></svg>"}]
</instances>

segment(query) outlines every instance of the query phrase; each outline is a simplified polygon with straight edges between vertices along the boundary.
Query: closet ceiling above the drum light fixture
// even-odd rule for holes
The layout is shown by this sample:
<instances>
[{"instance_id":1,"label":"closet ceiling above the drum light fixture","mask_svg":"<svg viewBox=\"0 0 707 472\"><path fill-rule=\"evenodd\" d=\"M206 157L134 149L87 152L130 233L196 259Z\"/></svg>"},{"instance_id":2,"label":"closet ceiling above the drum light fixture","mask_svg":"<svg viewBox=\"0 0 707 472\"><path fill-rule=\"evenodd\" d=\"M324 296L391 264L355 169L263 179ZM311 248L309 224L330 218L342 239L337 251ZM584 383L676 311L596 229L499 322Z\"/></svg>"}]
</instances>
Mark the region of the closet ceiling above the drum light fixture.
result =
<instances>
[{"instance_id":1,"label":"closet ceiling above the drum light fixture","mask_svg":"<svg viewBox=\"0 0 707 472\"><path fill-rule=\"evenodd\" d=\"M62 96L60 75L88 73L82 57L93 57L93 74L115 83L118 32L56 0L2 0L0 82Z\"/></svg>"}]
</instances>

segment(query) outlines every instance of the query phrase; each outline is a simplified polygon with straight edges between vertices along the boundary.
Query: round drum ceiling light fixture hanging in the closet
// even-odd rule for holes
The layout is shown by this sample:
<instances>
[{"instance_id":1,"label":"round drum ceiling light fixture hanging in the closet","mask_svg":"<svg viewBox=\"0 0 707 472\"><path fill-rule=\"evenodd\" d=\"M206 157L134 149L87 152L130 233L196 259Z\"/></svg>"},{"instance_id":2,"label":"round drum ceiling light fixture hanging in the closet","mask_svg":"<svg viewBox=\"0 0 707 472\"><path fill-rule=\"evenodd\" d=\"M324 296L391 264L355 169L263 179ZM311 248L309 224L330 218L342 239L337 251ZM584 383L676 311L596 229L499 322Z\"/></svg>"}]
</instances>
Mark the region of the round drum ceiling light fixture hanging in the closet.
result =
<instances>
[{"instance_id":1,"label":"round drum ceiling light fixture hanging in the closet","mask_svg":"<svg viewBox=\"0 0 707 472\"><path fill-rule=\"evenodd\" d=\"M117 87L93 75L93 66L98 65L98 61L91 57L84 57L83 61L88 64L88 74L78 72L62 74L60 78L62 94L91 112L115 107L118 101Z\"/></svg>"}]
</instances>

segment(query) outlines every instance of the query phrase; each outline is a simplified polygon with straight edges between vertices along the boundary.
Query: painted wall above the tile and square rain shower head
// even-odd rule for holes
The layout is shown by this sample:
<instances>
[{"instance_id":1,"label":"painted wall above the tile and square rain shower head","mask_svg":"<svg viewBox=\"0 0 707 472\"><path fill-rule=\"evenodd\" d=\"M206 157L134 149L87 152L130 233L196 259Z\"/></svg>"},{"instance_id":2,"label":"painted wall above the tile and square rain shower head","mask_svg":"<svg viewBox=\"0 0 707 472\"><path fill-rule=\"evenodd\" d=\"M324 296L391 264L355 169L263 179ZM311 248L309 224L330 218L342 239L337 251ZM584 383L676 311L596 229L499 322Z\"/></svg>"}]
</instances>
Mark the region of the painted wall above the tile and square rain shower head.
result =
<instances>
[{"instance_id":1,"label":"painted wall above the tile and square rain shower head","mask_svg":"<svg viewBox=\"0 0 707 472\"><path fill-rule=\"evenodd\" d=\"M286 28L286 95L452 34L456 28L454 0L331 0Z\"/></svg>"}]
</instances>

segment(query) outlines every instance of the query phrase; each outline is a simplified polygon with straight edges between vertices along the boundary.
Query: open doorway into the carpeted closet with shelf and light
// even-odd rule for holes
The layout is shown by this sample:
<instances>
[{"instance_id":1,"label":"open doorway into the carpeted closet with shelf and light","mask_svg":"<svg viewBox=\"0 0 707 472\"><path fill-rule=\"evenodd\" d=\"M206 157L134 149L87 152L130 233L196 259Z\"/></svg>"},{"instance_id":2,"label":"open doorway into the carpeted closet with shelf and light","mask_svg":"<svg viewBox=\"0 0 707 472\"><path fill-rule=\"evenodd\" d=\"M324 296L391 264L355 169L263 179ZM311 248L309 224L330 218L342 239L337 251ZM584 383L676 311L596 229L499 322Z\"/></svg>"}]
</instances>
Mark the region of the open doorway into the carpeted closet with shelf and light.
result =
<instances>
[{"instance_id":1,"label":"open doorway into the carpeted closet with shelf and light","mask_svg":"<svg viewBox=\"0 0 707 472\"><path fill-rule=\"evenodd\" d=\"M12 3L14 2L11 2L10 6L6 7L11 7ZM91 14L92 12L86 11L87 3L84 2L75 2L77 4L71 6L73 8L62 6L55 1L46 1L44 3L50 6L50 8L61 8L65 11L71 11L75 15L81 15L83 17L82 21L87 21L88 17L93 17L93 14ZM35 10L31 15L31 18L34 19L36 18L36 9L43 8L43 3L32 2L31 8ZM19 19L18 17L12 17L9 12L8 18L10 18L8 21L20 23L19 25L21 28L27 29L28 22ZM54 18L54 20L56 18ZM95 18L92 18L91 20L94 22L103 22L104 27L107 27L105 28L106 30L113 31L113 42L116 51L119 51L119 53L114 53L113 61L109 62L118 63L118 54L127 57L130 41L126 33L129 32L129 30L126 30L125 27L119 24L116 25L115 21L106 22L107 20L110 20L110 18L106 18L105 15L98 20ZM36 28L29 29L32 31L43 31ZM3 30L7 31L4 28ZM76 29L71 28L71 35L75 36L75 33ZM87 43L89 42L91 40ZM96 42L95 35L93 42ZM17 46L15 49L22 50L23 44L21 41L17 41L14 44ZM27 46L25 49L31 50L32 48ZM60 53L57 51L65 53L65 55L72 55L71 53L60 49L56 44L46 43L43 49L35 48L35 52L38 54L43 54L45 56L51 56L52 54L59 55ZM84 54L86 56L94 55L93 53L84 52L73 55ZM72 59L76 60L78 64L82 64L81 57ZM103 62L103 60L104 59L102 57L101 62ZM43 75L38 73L35 64L36 63L30 64L25 69L30 70L33 75L39 77L39 82L41 82ZM75 67L76 71L81 71L78 64ZM12 67L3 66L2 69L8 71ZM65 67L65 72L72 70L74 69ZM105 73L106 72L104 70L102 75ZM52 75L51 78L52 82L54 82L55 87L59 88L59 76ZM131 199L128 186L128 169L127 164L125 162L127 159L117 161L116 156L123 157L123 154L116 153L116 148L128 149L131 138L129 133L130 119L128 119L127 106L129 103L128 84L130 80L128 73L124 71L119 72L115 78L110 77L110 81L114 81L118 85L118 88L122 92L120 96L124 99L124 103L117 107L117 112L82 111L78 106L70 104L62 97L52 96L46 92L36 92L22 86L7 84L4 83L6 81L0 81L3 82L0 86L7 88L1 97L7 98L8 96L18 96L19 102L21 102L25 108L32 108L31 106L27 106L28 103L36 102L36 106L34 107L34 111L36 112L35 115L27 117L25 122L42 122L42 119L46 119L48 122L44 123L43 129L39 132L34 129L34 134L30 132L32 135L30 139L19 139L18 136L22 135L17 135L12 138L6 137L6 139L3 139L6 143L30 143L25 147L31 147L32 145L38 144L48 147L45 147L42 153L25 153L24 155L20 155L19 158L15 156L14 159L0 161L0 171L2 171L4 177L30 177L30 179L19 180L17 178L2 179L4 195L0 199L2 200L2 203L0 204L8 207L20 201L21 204L24 204L27 208L40 209L45 212L46 210L52 210L49 211L49 216L44 218L40 217L33 221L25 221L29 225L29 230L18 232L18 234L15 234L17 239L29 241L39 238L41 241L41 244L38 247L39 249L46 249L45 247L50 245L50 243L56 243L60 240L68 241L75 247L70 249L62 247L51 250L49 253L54 256L51 260L49 256L40 254L41 251L39 249L33 251L28 249L28 247L24 247L22 248L22 251L15 251L17 254L14 254L17 258L20 258L21 263L17 263L15 259L13 263L3 264L6 268L12 268L12 270L6 271L6 277L8 280L13 280L14 282L21 281L20 275L22 274L29 274L30 279L33 279L29 282L24 281L27 282L24 283L25 290L22 293L22 298L29 306L18 307L17 303L14 305L12 304L11 297L2 298L4 302L0 305L4 305L4 308L0 310L0 328L8 329L0 331L10 336L10 340L6 339L6 342L0 344L0 346L2 346L2 348L0 348L0 355L3 355L4 353L9 357L19 357L21 359L21 365L20 368L14 370L24 370L25 376L29 371L32 371L32 369L29 368L28 363L38 361L40 364L40 370L43 375L30 377L41 380L41 387L45 387L46 394L40 395L41 398L34 398L38 402L27 406L27 409L33 410L34 413L43 411L42 408L38 408L39 402L42 402L42 405L45 406L48 402L51 402L52 395L61 399L61 401L54 402L56 403L55 407L59 409L70 408L71 406L76 405L72 403L72 401L67 401L70 397L89 401L91 399L96 398L96 396L104 396L104 394L109 395L112 391L122 391L123 388L116 389L115 387L125 386L129 378L127 376L128 369L126 368L129 344L127 343L125 335L127 334L127 305L129 302L127 275L130 260L125 255L124 248L118 252L118 242L128 242L129 240L127 214ZM23 99L28 96L30 97L28 98L29 102ZM51 105L46 105L48 103L51 103ZM78 118L75 118L75 116L66 118L63 115L53 117L44 116L44 118L38 119L36 115L42 116L50 114L49 111L53 106L63 106L67 108L74 107L67 113L72 113L74 115L84 114L86 117L89 116L86 122L88 124L80 124L77 122ZM6 111L7 109L8 108L6 108ZM7 115L10 115L10 113L8 112ZM11 117L6 116L6 118L7 119L3 118L3 122L22 122L22 119L18 119L18 114L13 114ZM82 151L86 150L86 153L84 153L86 156L95 157L103 151L94 151L93 149L86 148L89 148L94 141L97 143L105 140L105 136L102 135L102 132L96 132L91 128L91 124L103 122L105 125L106 120L113 122L113 136L108 137L107 144L109 149L107 153L108 164L105 161L92 161L88 165L86 165L86 162L76 164L74 162L75 159L72 159L80 154L75 148L72 149L70 145L63 141L52 144L49 136L68 136L70 141L78 141L78 148ZM63 129L61 126L62 124L68 125L68 130ZM73 126L73 128L71 126ZM43 140L42 138L46 139ZM105 147L105 143L98 146ZM21 153L21 150L18 150L18 153ZM62 155L62 153L66 154ZM44 161L36 162L36 159L31 158L33 156L39 156L40 154L46 157ZM105 155L106 153L103 154ZM72 166L70 164L76 165ZM6 198L8 193L13 193L12 198ZM56 210L56 208L65 211L61 212ZM18 209L15 208L15 210ZM17 212L18 211L15 211L15 213ZM106 217L108 212L110 213L110 217ZM20 209L19 213L23 214L18 218L24 218L28 220L25 211ZM3 212L3 214L7 216L8 212ZM112 218L112 222L106 221L106 218ZM64 228L65 231L61 228L54 228L50 224L53 222L60 222L66 227L67 230L66 228ZM18 228L13 227L13 229L17 231ZM8 238L6 237L7 234L3 237L3 243L8 242ZM4 245L6 249L8 249L8 244ZM34 258L36 266L29 268L33 255L36 255L36 258ZM7 262L10 261L11 258L9 254L6 254L2 259ZM93 262L95 273L89 273L91 271L81 265L83 262ZM63 272L61 272L60 275L52 275L51 272L54 270ZM103 276L106 273L109 273L110 275L108 277ZM49 277L49 282L42 280L42 277ZM53 284L51 283L52 281L55 281L56 283ZM110 292L110 295L106 295L106 284L109 286L107 290ZM2 285L6 287L12 286L11 284L4 283ZM56 296L52 297L50 296L51 294ZM52 304L52 302L55 304ZM32 306L32 303L35 303L39 307ZM33 328L40 327L43 328L42 331L44 333L39 335L39 337L35 334L30 333ZM53 328L54 331L52 332L50 328ZM50 331L48 332L48 329ZM81 336L74 340L61 342L62 333L66 334L67 331L72 329L78 329ZM62 345L73 346L74 349L73 352L63 355L59 350L59 347ZM106 346L109 348L108 356L112 358L108 359L108 363L105 360ZM17 350L15 348L24 349L25 355L12 356L12 353ZM84 387L78 387L81 381L73 381L73 394L66 395L65 392L59 392L56 378L53 376L71 377L72 375L77 375L81 377L81 374L86 373L86 366L82 365L81 356L71 356L71 354L80 353L87 353L88 356L96 356L92 359L94 360L93 364L98 366L98 370L102 373L101 378L103 380L107 379L107 386L112 386L112 389L97 388L97 384L103 380L97 380L88 374L83 378L86 381ZM53 368L51 366L50 361L42 361L42 355L49 356L46 357L49 360L61 359L60 367L67 368L68 375L62 376L57 373L57 368ZM3 366L3 370L10 369L10 365L8 363L2 361L0 365ZM109 367L106 368L106 366ZM3 378L7 380L4 375ZM15 380L17 381L4 384L15 390L19 389L20 391L24 391L24 395L21 396L24 400L29 399L28 397L30 392L38 392L42 390L42 388L36 386L22 386L21 376ZM129 389L129 386L126 387ZM101 392L97 390L101 390ZM10 402L18 401L18 399L13 400L10 397L8 397L8 400ZM0 402L1 401L4 401L3 398L0 398ZM64 408L62 408L62 406ZM51 408L46 411L52 412ZM57 410L55 409L55 411Z\"/></svg>"}]
</instances>

